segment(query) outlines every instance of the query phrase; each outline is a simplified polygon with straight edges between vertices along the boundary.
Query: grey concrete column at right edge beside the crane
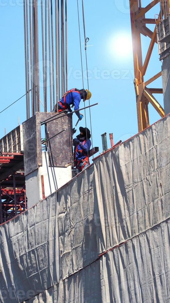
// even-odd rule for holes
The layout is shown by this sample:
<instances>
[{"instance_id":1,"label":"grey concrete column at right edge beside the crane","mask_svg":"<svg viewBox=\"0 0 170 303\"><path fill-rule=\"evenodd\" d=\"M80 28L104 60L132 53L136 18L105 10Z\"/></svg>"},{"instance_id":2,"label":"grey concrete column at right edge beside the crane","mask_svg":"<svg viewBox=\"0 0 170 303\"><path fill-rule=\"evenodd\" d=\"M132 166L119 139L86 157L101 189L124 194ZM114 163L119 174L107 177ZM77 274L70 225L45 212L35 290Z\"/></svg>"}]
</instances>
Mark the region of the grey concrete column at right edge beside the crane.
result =
<instances>
[{"instance_id":1,"label":"grey concrete column at right edge beside the crane","mask_svg":"<svg viewBox=\"0 0 170 303\"><path fill-rule=\"evenodd\" d=\"M170 55L163 60L162 84L164 94L164 110L165 115L167 115L170 113Z\"/></svg>"}]
</instances>

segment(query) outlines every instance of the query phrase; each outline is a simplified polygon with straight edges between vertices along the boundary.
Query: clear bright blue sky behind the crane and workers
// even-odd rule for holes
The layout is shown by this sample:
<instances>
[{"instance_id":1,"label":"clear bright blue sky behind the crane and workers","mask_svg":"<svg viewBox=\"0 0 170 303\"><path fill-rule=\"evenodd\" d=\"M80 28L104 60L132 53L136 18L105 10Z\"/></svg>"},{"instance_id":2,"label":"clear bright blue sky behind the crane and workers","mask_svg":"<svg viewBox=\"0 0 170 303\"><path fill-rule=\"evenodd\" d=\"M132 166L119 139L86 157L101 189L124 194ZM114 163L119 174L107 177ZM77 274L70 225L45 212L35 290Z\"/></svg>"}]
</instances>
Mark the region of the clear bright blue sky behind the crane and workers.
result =
<instances>
[{"instance_id":1,"label":"clear bright blue sky behind the crane and workers","mask_svg":"<svg viewBox=\"0 0 170 303\"><path fill-rule=\"evenodd\" d=\"M68 88L82 88L77 1L68 0ZM81 1L80 15L81 14ZM143 1L146 6L149 1ZM39 6L40 8L40 6ZM89 89L92 92L91 104L99 105L91 109L93 146L99 146L102 152L101 134L107 132L107 144L110 147L109 133L113 132L114 143L128 139L138 132L136 115L136 96L134 91L134 70L132 51L127 55L127 47L120 55L118 39L126 37L131 42L131 24L128 1L97 0L84 1L86 36L89 37L87 59L89 69ZM155 6L146 17L154 18L159 14L159 5ZM83 70L86 72L85 52L83 47L83 20L81 37L83 51ZM148 25L153 29L153 25ZM0 0L0 111L25 93L25 59L23 35L22 0ZM143 60L150 42L142 37ZM148 66L145 80L161 70L157 45ZM85 75L85 74L84 74ZM84 78L87 87L86 76ZM161 78L150 87L162 87ZM163 106L162 95L156 95ZM43 96L41 97L43 99ZM83 104L82 104L83 106ZM90 128L89 111L86 111L87 127ZM19 100L0 114L0 137L26 120L25 98ZM150 124L160 116L149 106ZM77 116L73 118L73 126ZM85 119L78 126L85 126Z\"/></svg>"}]
</instances>

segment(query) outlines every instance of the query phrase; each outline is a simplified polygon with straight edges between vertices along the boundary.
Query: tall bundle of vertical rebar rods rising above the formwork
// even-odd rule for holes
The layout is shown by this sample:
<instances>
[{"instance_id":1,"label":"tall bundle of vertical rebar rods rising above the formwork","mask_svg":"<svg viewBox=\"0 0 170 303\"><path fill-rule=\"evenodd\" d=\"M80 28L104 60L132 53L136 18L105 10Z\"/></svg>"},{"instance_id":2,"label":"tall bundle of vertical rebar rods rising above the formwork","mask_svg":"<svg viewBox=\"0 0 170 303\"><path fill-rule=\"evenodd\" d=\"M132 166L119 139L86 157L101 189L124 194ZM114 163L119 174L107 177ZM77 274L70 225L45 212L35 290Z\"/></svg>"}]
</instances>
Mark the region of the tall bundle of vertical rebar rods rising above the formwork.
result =
<instances>
[{"instance_id":1,"label":"tall bundle of vertical rebar rods rising above the formwork","mask_svg":"<svg viewBox=\"0 0 170 303\"><path fill-rule=\"evenodd\" d=\"M41 0L40 6L24 0L23 11L29 119L39 111L52 112L67 91L67 0Z\"/></svg>"}]
</instances>

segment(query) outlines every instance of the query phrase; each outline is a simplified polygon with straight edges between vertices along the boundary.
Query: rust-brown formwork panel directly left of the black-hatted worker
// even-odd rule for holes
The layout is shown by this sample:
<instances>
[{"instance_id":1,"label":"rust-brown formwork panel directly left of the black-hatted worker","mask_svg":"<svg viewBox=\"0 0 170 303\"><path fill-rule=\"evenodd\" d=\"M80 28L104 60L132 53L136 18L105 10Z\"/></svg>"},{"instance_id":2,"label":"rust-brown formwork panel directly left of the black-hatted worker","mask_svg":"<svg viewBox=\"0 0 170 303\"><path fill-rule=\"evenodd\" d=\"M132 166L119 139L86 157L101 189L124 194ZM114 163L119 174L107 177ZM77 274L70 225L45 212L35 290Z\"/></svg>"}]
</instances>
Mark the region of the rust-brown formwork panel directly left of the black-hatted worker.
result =
<instances>
[{"instance_id":1,"label":"rust-brown formwork panel directly left of the black-hatted worker","mask_svg":"<svg viewBox=\"0 0 170 303\"><path fill-rule=\"evenodd\" d=\"M72 164L72 118L62 113L61 116L47 123L49 138L66 129L48 142L49 166L67 167Z\"/></svg>"}]
</instances>

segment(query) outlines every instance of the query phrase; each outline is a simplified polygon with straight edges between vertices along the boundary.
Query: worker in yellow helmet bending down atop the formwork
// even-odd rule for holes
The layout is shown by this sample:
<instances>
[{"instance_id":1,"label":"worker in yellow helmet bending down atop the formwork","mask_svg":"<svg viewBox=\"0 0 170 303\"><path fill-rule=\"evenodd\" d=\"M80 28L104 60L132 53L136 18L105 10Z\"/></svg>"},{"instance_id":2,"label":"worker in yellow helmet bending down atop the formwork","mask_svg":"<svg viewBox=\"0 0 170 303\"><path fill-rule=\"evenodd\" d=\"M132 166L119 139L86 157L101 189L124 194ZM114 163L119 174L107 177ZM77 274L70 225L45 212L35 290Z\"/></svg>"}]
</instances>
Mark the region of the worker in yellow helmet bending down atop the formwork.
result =
<instances>
[{"instance_id":1,"label":"worker in yellow helmet bending down atop the formwork","mask_svg":"<svg viewBox=\"0 0 170 303\"><path fill-rule=\"evenodd\" d=\"M74 110L79 109L79 103L81 99L85 102L85 100L88 100L91 98L91 92L88 91L88 89L77 89L72 88L69 91L65 92L63 97L58 102L58 112L62 112L63 110L68 110L70 113L71 105L74 107ZM56 112L56 105L55 105L55 112ZM77 117L81 120L83 118L83 115L81 113L76 112Z\"/></svg>"}]
</instances>

